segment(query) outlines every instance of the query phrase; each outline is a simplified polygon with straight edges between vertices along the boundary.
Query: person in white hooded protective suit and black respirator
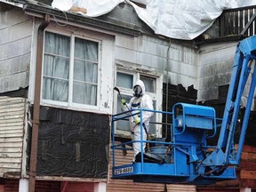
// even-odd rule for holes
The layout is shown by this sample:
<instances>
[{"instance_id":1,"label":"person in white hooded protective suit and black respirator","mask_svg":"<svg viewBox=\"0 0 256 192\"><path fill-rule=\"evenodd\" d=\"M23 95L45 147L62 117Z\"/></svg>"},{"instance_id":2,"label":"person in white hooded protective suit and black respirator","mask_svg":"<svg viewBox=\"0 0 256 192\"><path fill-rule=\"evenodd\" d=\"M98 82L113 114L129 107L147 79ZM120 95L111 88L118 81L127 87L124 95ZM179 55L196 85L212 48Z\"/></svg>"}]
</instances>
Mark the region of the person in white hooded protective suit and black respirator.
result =
<instances>
[{"instance_id":1,"label":"person in white hooded protective suit and black respirator","mask_svg":"<svg viewBox=\"0 0 256 192\"><path fill-rule=\"evenodd\" d=\"M122 110L127 111L130 109L136 109L136 108L144 108L144 109L150 109L153 110L153 101L150 98L148 94L145 93L145 84L139 80L134 86L133 86L133 97L130 100L129 103L126 103L126 101L123 99L122 102ZM133 110L132 114L137 113L138 111ZM142 138L143 140L147 140L147 134L149 129L149 119L151 116L153 116L153 112L151 111L142 111ZM140 114L134 115L130 117L130 131L131 131L131 137L133 140L140 140ZM140 153L140 142L133 142L133 159L132 162L135 162L135 156L137 156L138 153ZM143 150L145 152L146 143L143 142Z\"/></svg>"}]
</instances>

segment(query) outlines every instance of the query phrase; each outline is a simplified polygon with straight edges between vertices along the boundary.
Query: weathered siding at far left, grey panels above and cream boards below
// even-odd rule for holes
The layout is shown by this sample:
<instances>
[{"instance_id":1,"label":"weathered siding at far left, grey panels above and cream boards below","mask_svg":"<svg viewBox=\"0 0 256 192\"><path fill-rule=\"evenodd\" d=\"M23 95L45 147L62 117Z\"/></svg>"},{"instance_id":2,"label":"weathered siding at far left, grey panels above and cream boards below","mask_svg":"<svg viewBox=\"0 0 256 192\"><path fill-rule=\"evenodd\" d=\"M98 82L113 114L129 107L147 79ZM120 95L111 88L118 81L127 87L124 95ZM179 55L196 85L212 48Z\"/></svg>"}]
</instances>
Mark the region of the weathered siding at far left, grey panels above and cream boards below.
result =
<instances>
[{"instance_id":1,"label":"weathered siding at far left, grey panels above and cream boards below","mask_svg":"<svg viewBox=\"0 0 256 192\"><path fill-rule=\"evenodd\" d=\"M32 20L19 8L0 4L0 177L20 178L26 99L4 96L28 87Z\"/></svg>"}]
</instances>

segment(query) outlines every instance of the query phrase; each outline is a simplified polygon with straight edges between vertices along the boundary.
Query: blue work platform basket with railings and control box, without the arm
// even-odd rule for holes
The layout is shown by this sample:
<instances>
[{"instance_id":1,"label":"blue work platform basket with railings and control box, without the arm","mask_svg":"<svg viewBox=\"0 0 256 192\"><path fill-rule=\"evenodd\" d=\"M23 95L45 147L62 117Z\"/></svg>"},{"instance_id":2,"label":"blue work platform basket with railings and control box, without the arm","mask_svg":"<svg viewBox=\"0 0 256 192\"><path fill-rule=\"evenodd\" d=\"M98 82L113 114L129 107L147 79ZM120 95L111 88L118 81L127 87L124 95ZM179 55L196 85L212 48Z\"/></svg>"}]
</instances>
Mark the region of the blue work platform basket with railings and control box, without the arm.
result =
<instances>
[{"instance_id":1,"label":"blue work platform basket with railings and control box, without the arm","mask_svg":"<svg viewBox=\"0 0 256 192\"><path fill-rule=\"evenodd\" d=\"M140 109L140 116L142 111ZM135 140L115 144L114 122L127 118L124 113L113 116L112 148L113 170L112 178L116 180L133 180L134 182L154 183L183 183L183 184L212 184L219 180L236 179L236 166L219 166L217 170L203 165L209 150L216 146L207 146L207 139L216 134L217 119L213 108L177 103L172 112L152 111L154 113L168 113L172 115L174 124L170 125L171 142L156 140ZM142 126L140 127L142 129ZM208 136L206 132L211 132ZM148 153L141 152L139 161L133 164L116 165L116 150L124 150L124 146L131 146L132 142L150 143ZM147 156L160 156L162 161L152 163ZM224 167L224 168L223 168ZM216 169L216 167L214 167Z\"/></svg>"}]
</instances>

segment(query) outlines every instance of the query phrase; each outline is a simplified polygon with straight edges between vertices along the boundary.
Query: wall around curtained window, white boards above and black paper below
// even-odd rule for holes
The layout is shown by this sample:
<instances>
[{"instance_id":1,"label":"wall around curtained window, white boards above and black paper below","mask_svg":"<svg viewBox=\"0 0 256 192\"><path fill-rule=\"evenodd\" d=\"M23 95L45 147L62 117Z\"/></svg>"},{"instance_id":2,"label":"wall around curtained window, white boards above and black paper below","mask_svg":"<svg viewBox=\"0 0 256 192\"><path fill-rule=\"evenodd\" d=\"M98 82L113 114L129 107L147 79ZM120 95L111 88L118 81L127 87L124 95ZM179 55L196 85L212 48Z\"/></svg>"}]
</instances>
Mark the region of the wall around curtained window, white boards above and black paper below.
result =
<instances>
[{"instance_id":1,"label":"wall around curtained window, white boards above and black paper below","mask_svg":"<svg viewBox=\"0 0 256 192\"><path fill-rule=\"evenodd\" d=\"M35 18L34 21L32 40L34 49L32 49L28 90L28 100L31 104L35 100L37 28L43 20ZM110 138L109 115L112 114L113 102L113 84L109 83L113 81L114 37L86 28L69 25L63 27L54 21L45 30L57 34L75 34L84 38L99 39L102 52L99 73L100 99L99 105L95 108L86 108L86 106L76 108L58 106L41 98L36 175L43 180L45 177L54 177L56 180L76 178L88 182L93 180L95 182L95 179L106 182ZM32 105L31 108L32 121ZM30 137L31 135L28 135L28 140ZM28 156L29 152L28 148Z\"/></svg>"}]
</instances>

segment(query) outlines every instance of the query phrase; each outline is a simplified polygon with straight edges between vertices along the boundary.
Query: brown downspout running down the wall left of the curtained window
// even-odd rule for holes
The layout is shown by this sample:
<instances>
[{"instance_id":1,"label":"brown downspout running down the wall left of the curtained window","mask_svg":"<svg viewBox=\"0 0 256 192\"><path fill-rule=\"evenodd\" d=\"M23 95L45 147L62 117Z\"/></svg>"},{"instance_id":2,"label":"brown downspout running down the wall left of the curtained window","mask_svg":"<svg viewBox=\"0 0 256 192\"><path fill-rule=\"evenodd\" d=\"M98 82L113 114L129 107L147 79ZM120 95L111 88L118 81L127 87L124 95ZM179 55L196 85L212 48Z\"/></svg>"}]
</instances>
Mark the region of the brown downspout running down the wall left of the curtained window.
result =
<instances>
[{"instance_id":1,"label":"brown downspout running down the wall left of the curtained window","mask_svg":"<svg viewBox=\"0 0 256 192\"><path fill-rule=\"evenodd\" d=\"M36 47L36 80L34 94L34 108L32 120L32 136L31 136L31 152L30 164L28 172L28 192L35 191L36 183L36 156L37 156L37 141L40 116L40 94L41 94L41 78L42 78L42 62L43 62L43 46L44 46L44 29L50 23L50 15L44 15L44 21L38 28L37 47Z\"/></svg>"}]
</instances>

